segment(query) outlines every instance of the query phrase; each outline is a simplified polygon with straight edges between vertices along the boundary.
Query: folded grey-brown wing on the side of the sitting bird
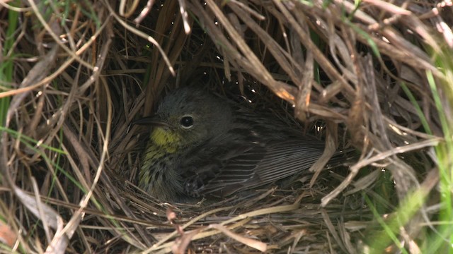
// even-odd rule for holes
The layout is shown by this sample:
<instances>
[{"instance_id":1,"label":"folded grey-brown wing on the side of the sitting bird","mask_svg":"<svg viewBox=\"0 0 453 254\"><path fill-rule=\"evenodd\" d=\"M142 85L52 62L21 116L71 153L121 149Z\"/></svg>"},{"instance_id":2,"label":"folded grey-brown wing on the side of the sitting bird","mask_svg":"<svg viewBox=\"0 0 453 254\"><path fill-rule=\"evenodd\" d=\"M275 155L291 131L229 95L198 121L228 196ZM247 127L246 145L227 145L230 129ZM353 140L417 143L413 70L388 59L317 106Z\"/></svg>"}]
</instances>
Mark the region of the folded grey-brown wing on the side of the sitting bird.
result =
<instances>
[{"instance_id":1,"label":"folded grey-brown wing on the side of the sitting bird","mask_svg":"<svg viewBox=\"0 0 453 254\"><path fill-rule=\"evenodd\" d=\"M323 153L319 140L273 140L266 144L222 147L208 152L185 179L188 195L224 197L243 189L256 188L309 169Z\"/></svg>"}]
</instances>

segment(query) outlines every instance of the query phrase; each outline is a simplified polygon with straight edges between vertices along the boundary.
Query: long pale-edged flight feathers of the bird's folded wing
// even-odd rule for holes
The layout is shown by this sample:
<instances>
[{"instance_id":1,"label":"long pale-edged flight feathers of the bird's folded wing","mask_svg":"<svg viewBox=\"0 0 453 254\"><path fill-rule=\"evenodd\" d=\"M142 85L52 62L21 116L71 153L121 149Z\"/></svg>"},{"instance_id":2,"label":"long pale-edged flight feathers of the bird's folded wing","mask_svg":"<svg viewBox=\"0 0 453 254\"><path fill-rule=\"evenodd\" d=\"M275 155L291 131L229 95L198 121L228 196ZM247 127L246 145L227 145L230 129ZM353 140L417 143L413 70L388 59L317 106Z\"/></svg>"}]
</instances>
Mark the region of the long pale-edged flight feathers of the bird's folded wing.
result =
<instances>
[{"instance_id":1,"label":"long pale-edged flight feathers of the bird's folded wing","mask_svg":"<svg viewBox=\"0 0 453 254\"><path fill-rule=\"evenodd\" d=\"M310 143L304 143L308 141ZM256 188L309 169L323 153L319 140L273 140L253 143L236 156L224 158L217 174L201 187L205 195L226 196Z\"/></svg>"}]
</instances>

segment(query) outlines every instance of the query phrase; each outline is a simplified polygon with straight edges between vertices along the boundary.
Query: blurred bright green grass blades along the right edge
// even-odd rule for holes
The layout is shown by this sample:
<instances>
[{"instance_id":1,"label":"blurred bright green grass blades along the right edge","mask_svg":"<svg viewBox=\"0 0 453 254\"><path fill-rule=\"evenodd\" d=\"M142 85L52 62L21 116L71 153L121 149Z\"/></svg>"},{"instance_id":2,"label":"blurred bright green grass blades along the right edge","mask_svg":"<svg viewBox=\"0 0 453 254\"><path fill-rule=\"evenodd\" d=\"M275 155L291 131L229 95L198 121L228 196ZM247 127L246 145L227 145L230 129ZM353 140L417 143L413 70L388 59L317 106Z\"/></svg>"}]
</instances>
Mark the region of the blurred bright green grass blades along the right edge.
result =
<instances>
[{"instance_id":1,"label":"blurred bright green grass blades along the right edge","mask_svg":"<svg viewBox=\"0 0 453 254\"><path fill-rule=\"evenodd\" d=\"M444 141L434 147L435 150L435 166L439 170L440 183L440 212L437 216L432 217L434 230L422 229L426 236L424 239L415 239L421 253L453 253L453 207L452 207L452 190L453 190L453 138L452 138L452 116L447 115L453 110L453 86L446 80L453 80L453 52L450 49L445 49L439 54L434 54L436 66L445 75L442 82L441 78L435 79L430 71L426 72L426 78L430 85L432 99L435 102L437 114L439 115ZM401 88L410 99L418 113L420 121L425 133L432 134L429 119L425 118L422 109L420 108L415 97L408 89L406 84L401 83ZM396 183L398 184L398 183ZM435 188L436 189L436 188ZM434 192L434 193L433 193ZM436 190L431 193L435 195ZM389 216L384 222L382 214L379 214L374 208L371 200L367 199L367 204L374 212L374 217L381 226L381 230L377 234L369 237L371 244L370 253L382 253L384 248L391 243L397 246L401 253L408 253L409 250L401 246L401 237L398 238L401 226L407 222L425 205L430 193L422 188L414 190L407 196L405 200L401 200L396 211ZM421 225L420 225L421 226ZM418 241L419 240L419 241Z\"/></svg>"}]
</instances>

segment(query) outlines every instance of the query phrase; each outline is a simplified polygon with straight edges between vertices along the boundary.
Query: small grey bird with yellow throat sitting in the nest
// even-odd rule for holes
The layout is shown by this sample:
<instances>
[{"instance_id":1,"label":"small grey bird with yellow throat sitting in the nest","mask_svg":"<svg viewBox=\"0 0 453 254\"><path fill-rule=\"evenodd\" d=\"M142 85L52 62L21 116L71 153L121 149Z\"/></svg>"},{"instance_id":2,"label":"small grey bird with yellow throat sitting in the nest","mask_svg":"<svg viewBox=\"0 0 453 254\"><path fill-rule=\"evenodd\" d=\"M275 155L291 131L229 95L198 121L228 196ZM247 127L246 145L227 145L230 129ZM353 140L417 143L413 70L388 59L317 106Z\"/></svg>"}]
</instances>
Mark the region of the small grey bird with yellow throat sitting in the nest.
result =
<instances>
[{"instance_id":1,"label":"small grey bird with yellow throat sitting in the nest","mask_svg":"<svg viewBox=\"0 0 453 254\"><path fill-rule=\"evenodd\" d=\"M166 202L224 198L307 171L324 143L285 123L183 87L164 97L139 171L139 188Z\"/></svg>"}]
</instances>

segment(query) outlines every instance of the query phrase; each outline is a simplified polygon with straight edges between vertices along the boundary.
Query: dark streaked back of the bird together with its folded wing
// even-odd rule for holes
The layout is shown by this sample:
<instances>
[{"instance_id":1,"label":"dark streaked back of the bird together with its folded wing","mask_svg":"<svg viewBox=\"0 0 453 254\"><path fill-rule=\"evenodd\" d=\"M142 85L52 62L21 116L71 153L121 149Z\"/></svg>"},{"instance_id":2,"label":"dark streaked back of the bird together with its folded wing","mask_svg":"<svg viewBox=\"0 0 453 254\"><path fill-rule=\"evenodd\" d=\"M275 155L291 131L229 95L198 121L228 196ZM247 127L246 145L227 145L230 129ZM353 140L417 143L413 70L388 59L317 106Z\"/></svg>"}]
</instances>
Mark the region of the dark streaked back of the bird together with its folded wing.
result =
<instances>
[{"instance_id":1,"label":"dark streaked back of the bird together with its folded wing","mask_svg":"<svg viewBox=\"0 0 453 254\"><path fill-rule=\"evenodd\" d=\"M320 140L269 116L240 110L228 132L200 144L180 165L187 195L225 197L257 188L299 174L321 157Z\"/></svg>"}]
</instances>

